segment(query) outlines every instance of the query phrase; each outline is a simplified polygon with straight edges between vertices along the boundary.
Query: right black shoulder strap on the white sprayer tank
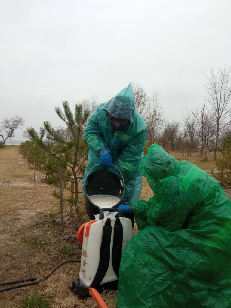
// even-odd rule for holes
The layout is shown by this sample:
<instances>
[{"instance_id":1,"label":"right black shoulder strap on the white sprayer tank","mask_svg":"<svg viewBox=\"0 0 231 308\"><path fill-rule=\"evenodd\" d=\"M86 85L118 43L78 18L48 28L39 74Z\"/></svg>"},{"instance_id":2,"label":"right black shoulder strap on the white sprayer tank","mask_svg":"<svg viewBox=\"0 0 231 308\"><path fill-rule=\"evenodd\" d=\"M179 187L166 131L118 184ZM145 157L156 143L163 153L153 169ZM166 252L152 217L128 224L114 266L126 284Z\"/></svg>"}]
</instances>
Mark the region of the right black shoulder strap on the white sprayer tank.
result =
<instances>
[{"instance_id":1,"label":"right black shoulder strap on the white sprayer tank","mask_svg":"<svg viewBox=\"0 0 231 308\"><path fill-rule=\"evenodd\" d=\"M114 226L114 239L112 247L112 266L116 276L119 279L121 252L123 244L123 226L121 225L120 218L117 217Z\"/></svg>"}]
</instances>

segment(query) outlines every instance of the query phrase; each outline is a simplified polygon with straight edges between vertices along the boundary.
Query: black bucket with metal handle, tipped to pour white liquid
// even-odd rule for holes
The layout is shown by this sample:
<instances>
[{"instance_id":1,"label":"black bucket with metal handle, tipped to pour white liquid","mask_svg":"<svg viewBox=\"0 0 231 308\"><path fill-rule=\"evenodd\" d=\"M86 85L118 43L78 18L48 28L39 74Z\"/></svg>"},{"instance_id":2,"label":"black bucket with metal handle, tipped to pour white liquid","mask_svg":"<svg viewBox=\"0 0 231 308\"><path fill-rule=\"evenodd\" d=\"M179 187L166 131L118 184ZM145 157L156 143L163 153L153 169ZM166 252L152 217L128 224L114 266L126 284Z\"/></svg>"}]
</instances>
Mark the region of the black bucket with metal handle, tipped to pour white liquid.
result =
<instances>
[{"instance_id":1,"label":"black bucket with metal handle, tipped to pour white liquid","mask_svg":"<svg viewBox=\"0 0 231 308\"><path fill-rule=\"evenodd\" d=\"M113 206L116 207L121 204L124 198L124 180L121 180L120 177L113 172L98 170L92 172L89 176L87 175L84 184L84 192L86 196L85 207L87 215L91 220L94 220L94 215L99 214L100 207L90 201L89 197L92 195L111 195L118 197L120 201Z\"/></svg>"}]
</instances>

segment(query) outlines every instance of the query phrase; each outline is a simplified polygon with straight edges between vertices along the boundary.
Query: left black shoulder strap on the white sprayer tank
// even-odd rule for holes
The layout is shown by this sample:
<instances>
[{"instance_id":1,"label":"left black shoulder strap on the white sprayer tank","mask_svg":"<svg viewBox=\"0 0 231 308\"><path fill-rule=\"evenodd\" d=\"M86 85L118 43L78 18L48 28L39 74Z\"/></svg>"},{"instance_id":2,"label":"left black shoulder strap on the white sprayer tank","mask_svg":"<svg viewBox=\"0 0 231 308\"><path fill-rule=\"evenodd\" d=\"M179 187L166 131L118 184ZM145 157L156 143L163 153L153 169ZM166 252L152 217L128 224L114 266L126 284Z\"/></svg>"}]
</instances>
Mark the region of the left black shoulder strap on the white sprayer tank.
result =
<instances>
[{"instance_id":1,"label":"left black shoulder strap on the white sprayer tank","mask_svg":"<svg viewBox=\"0 0 231 308\"><path fill-rule=\"evenodd\" d=\"M91 287L99 286L103 280L110 263L110 245L111 245L111 219L107 218L103 226L103 236L100 247L99 266Z\"/></svg>"}]
</instances>

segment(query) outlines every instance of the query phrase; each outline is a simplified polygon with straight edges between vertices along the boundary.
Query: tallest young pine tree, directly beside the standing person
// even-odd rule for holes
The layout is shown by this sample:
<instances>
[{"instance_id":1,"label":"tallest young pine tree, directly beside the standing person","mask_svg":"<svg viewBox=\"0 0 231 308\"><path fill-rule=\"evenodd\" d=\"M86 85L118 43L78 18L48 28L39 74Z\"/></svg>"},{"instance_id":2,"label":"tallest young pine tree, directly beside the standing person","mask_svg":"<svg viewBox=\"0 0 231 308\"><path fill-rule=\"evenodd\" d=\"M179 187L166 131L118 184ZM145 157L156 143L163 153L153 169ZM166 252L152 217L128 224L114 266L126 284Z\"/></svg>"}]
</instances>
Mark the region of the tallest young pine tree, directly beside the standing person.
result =
<instances>
[{"instance_id":1,"label":"tallest young pine tree, directly beside the standing person","mask_svg":"<svg viewBox=\"0 0 231 308\"><path fill-rule=\"evenodd\" d=\"M78 183L83 178L88 155L88 146L83 133L90 111L82 104L75 104L75 112L72 113L67 101L63 102L63 111L59 107L55 108L55 111L66 124L66 134L63 134L60 129L53 128L49 121L43 122L39 133L33 127L27 128L27 133L48 154L45 167L50 174L47 179L50 184L58 185L59 183L59 161L62 166L63 188L70 190L71 178L74 178L74 201L77 209Z\"/></svg>"}]
</instances>

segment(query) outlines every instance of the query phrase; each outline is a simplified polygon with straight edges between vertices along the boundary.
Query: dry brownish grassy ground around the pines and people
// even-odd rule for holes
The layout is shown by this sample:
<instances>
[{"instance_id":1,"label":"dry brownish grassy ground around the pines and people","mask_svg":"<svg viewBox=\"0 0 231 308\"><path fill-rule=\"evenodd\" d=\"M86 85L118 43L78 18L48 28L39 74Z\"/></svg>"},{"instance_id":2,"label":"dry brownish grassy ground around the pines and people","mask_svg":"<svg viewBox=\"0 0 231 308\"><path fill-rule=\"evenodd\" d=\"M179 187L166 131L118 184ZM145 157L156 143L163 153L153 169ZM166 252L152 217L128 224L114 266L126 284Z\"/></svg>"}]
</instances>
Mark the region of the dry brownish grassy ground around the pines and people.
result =
<instances>
[{"instance_id":1,"label":"dry brownish grassy ground around the pines and people","mask_svg":"<svg viewBox=\"0 0 231 308\"><path fill-rule=\"evenodd\" d=\"M213 155L203 162L198 153L192 156L170 152L179 161L189 160L211 174L216 168ZM76 233L87 217L69 218L64 205L65 230L60 231L59 200L51 196L52 186L41 180L44 175L28 169L18 146L0 149L0 282L48 274L68 259L80 259ZM226 190L229 195L229 190ZM152 196L146 179L141 199ZM83 199L81 205L84 209ZM97 307L89 298L81 300L70 293L68 284L78 278L79 263L63 265L39 285L0 293L0 308L79 308ZM3 286L2 286L3 288ZM116 291L104 291L102 297L109 308L115 308Z\"/></svg>"}]
</instances>

